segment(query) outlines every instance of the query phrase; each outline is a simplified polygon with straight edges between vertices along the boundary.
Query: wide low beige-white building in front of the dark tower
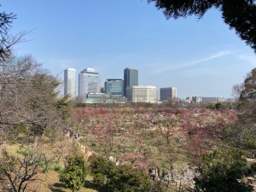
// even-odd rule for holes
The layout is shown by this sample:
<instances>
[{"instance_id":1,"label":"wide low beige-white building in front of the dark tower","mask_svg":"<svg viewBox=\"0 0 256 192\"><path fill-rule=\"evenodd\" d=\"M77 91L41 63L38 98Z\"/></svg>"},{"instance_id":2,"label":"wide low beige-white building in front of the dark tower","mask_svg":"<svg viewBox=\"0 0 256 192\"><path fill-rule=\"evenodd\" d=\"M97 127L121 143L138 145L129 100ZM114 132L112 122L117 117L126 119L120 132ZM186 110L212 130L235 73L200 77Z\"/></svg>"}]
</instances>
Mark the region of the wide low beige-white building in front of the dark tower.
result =
<instances>
[{"instance_id":1,"label":"wide low beige-white building in front of the dark tower","mask_svg":"<svg viewBox=\"0 0 256 192\"><path fill-rule=\"evenodd\" d=\"M127 102L157 102L156 87L133 85L126 88Z\"/></svg>"}]
</instances>

